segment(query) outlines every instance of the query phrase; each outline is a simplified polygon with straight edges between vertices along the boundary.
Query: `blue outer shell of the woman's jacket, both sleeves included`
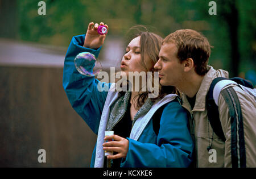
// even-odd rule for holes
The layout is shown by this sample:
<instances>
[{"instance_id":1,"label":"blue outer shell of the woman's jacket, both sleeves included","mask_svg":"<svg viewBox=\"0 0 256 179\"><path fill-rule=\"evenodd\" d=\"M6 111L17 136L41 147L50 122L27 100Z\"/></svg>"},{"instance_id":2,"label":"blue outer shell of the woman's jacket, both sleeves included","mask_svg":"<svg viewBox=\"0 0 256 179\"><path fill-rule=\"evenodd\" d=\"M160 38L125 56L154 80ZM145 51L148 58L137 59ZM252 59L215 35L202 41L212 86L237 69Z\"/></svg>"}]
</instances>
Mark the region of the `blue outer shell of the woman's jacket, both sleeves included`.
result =
<instances>
[{"instance_id":1,"label":"blue outer shell of the woman's jacket, both sleeves included","mask_svg":"<svg viewBox=\"0 0 256 179\"><path fill-rule=\"evenodd\" d=\"M97 85L105 89L110 85L100 82L94 77L81 75L75 68L74 59L81 52L93 53L96 57L100 48L82 47L85 35L74 36L65 56L63 71L63 87L73 109L81 116L95 134L98 134L102 113L108 106L108 91L97 89ZM118 93L118 92L115 92ZM137 122L135 122L137 123ZM160 118L159 134L153 130L152 120L138 139L129 140L129 150L121 167L188 167L192 162L193 142L189 132L187 112L177 99L168 102ZM99 141L99 140L98 140ZM101 145L102 146L102 145ZM97 148L94 148L91 167L94 167Z\"/></svg>"}]
</instances>

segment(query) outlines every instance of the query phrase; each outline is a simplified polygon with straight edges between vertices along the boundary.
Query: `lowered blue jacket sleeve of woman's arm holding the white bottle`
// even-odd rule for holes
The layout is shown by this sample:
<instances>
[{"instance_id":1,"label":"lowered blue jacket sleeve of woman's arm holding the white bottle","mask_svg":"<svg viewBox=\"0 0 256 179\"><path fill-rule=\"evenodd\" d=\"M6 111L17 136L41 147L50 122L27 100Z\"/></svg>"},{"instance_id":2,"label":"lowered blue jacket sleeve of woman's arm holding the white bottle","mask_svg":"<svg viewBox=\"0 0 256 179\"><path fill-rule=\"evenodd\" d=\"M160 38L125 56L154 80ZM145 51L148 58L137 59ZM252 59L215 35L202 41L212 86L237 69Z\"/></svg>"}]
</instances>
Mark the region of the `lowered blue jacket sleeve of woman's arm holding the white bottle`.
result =
<instances>
[{"instance_id":1,"label":"lowered blue jacket sleeve of woman's arm holding the white bottle","mask_svg":"<svg viewBox=\"0 0 256 179\"><path fill-rule=\"evenodd\" d=\"M164 108L157 144L129 139L129 151L122 167L188 167L192 161L193 141L188 117L179 102Z\"/></svg>"}]
</instances>

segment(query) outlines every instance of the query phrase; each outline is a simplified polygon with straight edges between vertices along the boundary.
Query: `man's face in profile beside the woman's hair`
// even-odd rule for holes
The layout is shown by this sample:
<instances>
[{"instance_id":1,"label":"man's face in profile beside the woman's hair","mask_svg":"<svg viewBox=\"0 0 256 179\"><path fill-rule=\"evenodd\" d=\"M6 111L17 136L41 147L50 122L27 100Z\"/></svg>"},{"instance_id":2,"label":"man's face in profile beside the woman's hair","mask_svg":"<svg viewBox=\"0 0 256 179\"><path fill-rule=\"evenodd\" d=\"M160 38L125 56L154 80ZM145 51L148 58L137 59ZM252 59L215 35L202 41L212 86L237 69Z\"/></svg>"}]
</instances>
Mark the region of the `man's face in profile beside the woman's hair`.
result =
<instances>
[{"instance_id":1,"label":"man's face in profile beside the woman's hair","mask_svg":"<svg viewBox=\"0 0 256 179\"><path fill-rule=\"evenodd\" d=\"M154 68L159 71L160 84L179 86L183 81L184 65L177 58L177 47L173 43L164 43L160 49L160 59Z\"/></svg>"}]
</instances>

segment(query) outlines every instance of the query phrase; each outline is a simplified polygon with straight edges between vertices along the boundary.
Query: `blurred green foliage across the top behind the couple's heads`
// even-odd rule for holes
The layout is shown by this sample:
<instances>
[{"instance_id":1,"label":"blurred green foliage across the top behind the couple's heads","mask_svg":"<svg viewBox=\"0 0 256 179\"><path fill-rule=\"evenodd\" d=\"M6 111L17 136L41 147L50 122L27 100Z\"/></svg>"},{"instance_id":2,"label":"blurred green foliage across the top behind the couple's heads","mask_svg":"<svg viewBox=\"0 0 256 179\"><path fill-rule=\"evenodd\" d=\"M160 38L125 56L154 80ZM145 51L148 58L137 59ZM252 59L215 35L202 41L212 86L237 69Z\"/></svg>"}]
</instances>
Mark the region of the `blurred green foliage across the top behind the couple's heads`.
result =
<instances>
[{"instance_id":1,"label":"blurred green foliage across the top behind the couple's heads","mask_svg":"<svg viewBox=\"0 0 256 179\"><path fill-rule=\"evenodd\" d=\"M240 72L255 70L254 0L217 0L217 15L209 15L210 1L206 0L46 0L46 15L38 15L38 2L18 1L18 36L22 40L67 46L72 36L86 32L89 22L108 24L109 35L115 36L124 36L136 24L151 27L163 37L181 28L192 28L207 36L214 46L210 65L232 70L230 64L238 63ZM238 11L241 59L234 62L229 28L232 6Z\"/></svg>"}]
</instances>

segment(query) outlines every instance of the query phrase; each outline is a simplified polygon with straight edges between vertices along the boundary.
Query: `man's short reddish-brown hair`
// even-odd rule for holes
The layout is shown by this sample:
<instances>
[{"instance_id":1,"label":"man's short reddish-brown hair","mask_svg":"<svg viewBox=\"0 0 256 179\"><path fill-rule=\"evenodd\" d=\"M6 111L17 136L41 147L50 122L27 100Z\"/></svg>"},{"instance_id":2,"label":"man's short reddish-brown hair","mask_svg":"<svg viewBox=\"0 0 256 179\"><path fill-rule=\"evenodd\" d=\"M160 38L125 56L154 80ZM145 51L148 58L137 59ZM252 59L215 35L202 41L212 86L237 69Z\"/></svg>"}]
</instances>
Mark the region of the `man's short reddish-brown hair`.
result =
<instances>
[{"instance_id":1,"label":"man's short reddish-brown hair","mask_svg":"<svg viewBox=\"0 0 256 179\"><path fill-rule=\"evenodd\" d=\"M191 29L177 30L168 35L163 40L164 43L176 45L177 58L180 59L180 62L188 58L193 59L197 74L203 76L207 73L211 46L205 36Z\"/></svg>"}]
</instances>

